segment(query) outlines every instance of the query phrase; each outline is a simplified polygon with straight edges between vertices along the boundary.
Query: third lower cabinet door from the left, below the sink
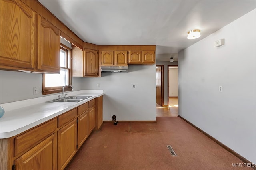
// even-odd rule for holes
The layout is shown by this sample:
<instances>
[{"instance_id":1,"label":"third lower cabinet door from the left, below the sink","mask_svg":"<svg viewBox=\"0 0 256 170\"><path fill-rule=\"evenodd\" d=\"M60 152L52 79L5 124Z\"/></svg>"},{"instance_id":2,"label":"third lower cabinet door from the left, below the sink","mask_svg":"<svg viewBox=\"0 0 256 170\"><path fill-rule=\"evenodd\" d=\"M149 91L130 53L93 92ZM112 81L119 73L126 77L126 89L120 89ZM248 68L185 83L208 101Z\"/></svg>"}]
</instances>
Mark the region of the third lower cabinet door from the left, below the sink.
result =
<instances>
[{"instance_id":1,"label":"third lower cabinet door from the left, below the sink","mask_svg":"<svg viewBox=\"0 0 256 170\"><path fill-rule=\"evenodd\" d=\"M88 111L78 117L77 124L77 144L78 148L84 143L88 137Z\"/></svg>"}]
</instances>

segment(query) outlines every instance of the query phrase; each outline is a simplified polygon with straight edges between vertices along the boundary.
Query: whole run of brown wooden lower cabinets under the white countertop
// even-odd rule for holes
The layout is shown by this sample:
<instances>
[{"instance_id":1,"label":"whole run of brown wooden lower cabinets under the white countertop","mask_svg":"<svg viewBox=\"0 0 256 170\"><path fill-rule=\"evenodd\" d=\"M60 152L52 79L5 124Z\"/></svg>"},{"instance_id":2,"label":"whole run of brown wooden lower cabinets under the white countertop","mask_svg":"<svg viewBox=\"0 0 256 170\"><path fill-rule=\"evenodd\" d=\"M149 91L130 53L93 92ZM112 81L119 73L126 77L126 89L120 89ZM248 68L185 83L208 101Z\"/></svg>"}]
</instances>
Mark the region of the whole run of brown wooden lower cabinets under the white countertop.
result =
<instances>
[{"instance_id":1,"label":"whole run of brown wooden lower cabinets under the white countertop","mask_svg":"<svg viewBox=\"0 0 256 170\"><path fill-rule=\"evenodd\" d=\"M0 170L63 170L92 130L102 124L102 99L92 99L30 130L0 139Z\"/></svg>"}]
</instances>

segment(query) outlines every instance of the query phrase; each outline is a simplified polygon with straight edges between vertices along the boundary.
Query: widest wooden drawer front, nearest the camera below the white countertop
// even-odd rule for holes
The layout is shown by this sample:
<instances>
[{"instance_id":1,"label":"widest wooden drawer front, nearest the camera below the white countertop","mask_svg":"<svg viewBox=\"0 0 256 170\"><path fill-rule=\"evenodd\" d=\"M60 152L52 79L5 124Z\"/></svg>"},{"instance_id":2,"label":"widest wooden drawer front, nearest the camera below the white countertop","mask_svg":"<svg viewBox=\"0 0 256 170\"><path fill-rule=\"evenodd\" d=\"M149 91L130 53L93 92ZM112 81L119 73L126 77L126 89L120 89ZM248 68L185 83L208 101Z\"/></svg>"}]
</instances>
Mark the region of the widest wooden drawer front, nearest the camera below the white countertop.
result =
<instances>
[{"instance_id":1,"label":"widest wooden drawer front, nearest the camera below the white countertop","mask_svg":"<svg viewBox=\"0 0 256 170\"><path fill-rule=\"evenodd\" d=\"M56 119L52 119L16 138L14 138L14 156L35 146L56 130Z\"/></svg>"}]
</instances>

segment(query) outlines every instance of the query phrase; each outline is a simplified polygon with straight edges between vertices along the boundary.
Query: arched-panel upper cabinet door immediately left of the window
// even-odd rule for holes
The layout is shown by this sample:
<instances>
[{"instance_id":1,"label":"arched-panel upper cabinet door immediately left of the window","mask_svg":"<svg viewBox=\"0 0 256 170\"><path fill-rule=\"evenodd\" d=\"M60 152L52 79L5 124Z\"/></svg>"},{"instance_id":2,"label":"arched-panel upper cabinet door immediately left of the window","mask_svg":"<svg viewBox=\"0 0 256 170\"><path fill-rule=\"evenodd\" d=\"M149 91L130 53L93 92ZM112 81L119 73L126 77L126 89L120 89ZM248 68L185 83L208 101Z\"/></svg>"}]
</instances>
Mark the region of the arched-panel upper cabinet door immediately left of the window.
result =
<instances>
[{"instance_id":1,"label":"arched-panel upper cabinet door immediately left of the window","mask_svg":"<svg viewBox=\"0 0 256 170\"><path fill-rule=\"evenodd\" d=\"M37 69L60 73L60 30L38 15Z\"/></svg>"}]
</instances>

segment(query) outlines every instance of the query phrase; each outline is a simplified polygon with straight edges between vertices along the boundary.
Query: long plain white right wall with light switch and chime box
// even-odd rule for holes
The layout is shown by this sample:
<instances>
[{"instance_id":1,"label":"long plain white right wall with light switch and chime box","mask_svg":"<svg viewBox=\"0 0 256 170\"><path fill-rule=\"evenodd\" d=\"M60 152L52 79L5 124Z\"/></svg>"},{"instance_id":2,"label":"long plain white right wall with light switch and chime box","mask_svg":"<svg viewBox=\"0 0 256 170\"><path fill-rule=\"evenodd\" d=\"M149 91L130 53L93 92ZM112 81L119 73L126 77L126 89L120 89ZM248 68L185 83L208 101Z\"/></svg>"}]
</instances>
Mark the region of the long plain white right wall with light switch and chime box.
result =
<instances>
[{"instance_id":1,"label":"long plain white right wall with light switch and chime box","mask_svg":"<svg viewBox=\"0 0 256 170\"><path fill-rule=\"evenodd\" d=\"M254 9L178 54L179 115L252 163L256 163L255 21ZM225 45L214 48L214 41L221 38Z\"/></svg>"}]
</instances>

